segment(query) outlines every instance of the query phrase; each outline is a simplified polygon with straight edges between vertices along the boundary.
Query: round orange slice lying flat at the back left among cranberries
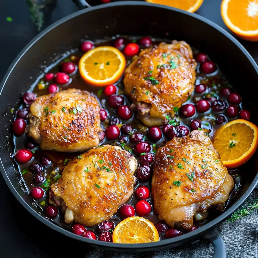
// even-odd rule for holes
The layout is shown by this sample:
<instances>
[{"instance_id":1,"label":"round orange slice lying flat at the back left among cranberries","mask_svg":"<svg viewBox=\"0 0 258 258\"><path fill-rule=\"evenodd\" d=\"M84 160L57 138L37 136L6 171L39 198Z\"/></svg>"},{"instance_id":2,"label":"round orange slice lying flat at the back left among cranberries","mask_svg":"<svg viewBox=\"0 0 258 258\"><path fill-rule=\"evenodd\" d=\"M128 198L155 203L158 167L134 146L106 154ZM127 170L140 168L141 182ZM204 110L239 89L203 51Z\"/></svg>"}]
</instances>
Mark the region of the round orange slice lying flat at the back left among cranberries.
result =
<instances>
[{"instance_id":1,"label":"round orange slice lying flat at the back left among cranberries","mask_svg":"<svg viewBox=\"0 0 258 258\"><path fill-rule=\"evenodd\" d=\"M125 64L124 55L115 47L96 47L81 57L79 71L86 83L102 87L117 82Z\"/></svg>"}]
</instances>

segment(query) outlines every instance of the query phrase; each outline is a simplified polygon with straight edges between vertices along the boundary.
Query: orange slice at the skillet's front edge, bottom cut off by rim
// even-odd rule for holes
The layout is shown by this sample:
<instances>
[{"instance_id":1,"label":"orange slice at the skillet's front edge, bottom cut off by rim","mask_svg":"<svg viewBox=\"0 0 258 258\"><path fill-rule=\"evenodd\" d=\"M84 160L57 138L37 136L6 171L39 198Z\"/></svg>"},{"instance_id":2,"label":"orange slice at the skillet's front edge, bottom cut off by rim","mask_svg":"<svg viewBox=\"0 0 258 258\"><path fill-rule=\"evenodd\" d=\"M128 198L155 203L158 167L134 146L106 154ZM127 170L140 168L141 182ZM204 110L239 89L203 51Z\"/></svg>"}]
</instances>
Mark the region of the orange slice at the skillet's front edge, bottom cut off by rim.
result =
<instances>
[{"instance_id":1,"label":"orange slice at the skillet's front edge, bottom cut off by rim","mask_svg":"<svg viewBox=\"0 0 258 258\"><path fill-rule=\"evenodd\" d=\"M137 216L121 221L113 231L113 242L141 244L159 241L159 233L147 219Z\"/></svg>"}]
</instances>

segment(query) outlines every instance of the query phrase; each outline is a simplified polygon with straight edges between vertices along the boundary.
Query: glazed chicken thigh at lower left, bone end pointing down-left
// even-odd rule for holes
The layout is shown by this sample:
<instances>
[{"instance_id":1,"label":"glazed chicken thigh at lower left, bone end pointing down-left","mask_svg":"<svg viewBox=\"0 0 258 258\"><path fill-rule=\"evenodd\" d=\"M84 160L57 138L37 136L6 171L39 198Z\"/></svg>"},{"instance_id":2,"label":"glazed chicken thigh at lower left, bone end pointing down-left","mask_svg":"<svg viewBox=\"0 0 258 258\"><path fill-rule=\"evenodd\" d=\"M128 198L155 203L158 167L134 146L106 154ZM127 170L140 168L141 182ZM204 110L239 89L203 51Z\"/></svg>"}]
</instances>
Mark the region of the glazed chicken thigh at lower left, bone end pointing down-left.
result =
<instances>
[{"instance_id":1,"label":"glazed chicken thigh at lower left, bone end pointing down-left","mask_svg":"<svg viewBox=\"0 0 258 258\"><path fill-rule=\"evenodd\" d=\"M120 147L103 145L71 160L61 178L51 186L56 198L65 202L65 222L75 220L92 226L109 219L131 197L136 182L137 160Z\"/></svg>"}]
</instances>

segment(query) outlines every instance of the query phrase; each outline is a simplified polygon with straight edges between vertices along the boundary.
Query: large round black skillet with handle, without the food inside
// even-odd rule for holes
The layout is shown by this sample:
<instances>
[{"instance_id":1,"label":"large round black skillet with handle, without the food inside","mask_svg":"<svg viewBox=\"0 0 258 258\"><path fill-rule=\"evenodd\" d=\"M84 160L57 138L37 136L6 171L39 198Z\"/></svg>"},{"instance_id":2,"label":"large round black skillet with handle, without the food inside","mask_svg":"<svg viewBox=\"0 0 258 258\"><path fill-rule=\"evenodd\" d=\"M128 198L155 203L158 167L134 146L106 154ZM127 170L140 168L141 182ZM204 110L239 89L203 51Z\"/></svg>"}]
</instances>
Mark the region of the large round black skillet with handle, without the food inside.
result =
<instances>
[{"instance_id":1,"label":"large round black skillet with handle, without the food inside","mask_svg":"<svg viewBox=\"0 0 258 258\"><path fill-rule=\"evenodd\" d=\"M78 0L80 7L87 7ZM235 203L214 220L190 233L148 244L115 244L77 236L50 222L31 200L15 164L10 125L13 115L10 108L18 108L21 93L26 92L43 72L41 65L50 65L54 56L76 48L80 39L104 39L114 35L151 35L157 38L178 39L209 54L217 62L231 85L247 100L245 108L251 110L252 122L258 124L258 67L245 48L230 34L199 15L175 8L145 2L124 1L83 9L55 22L34 38L14 60L0 86L1 124L6 125L0 135L0 170L5 182L19 202L48 227L93 247L107 251L152 252L194 243L200 238L214 245L214 256L225 258L222 238L214 229L248 197L258 182L256 156L246 166L245 182ZM249 95L246 87L252 87ZM9 129L7 131L7 128Z\"/></svg>"}]
</instances>

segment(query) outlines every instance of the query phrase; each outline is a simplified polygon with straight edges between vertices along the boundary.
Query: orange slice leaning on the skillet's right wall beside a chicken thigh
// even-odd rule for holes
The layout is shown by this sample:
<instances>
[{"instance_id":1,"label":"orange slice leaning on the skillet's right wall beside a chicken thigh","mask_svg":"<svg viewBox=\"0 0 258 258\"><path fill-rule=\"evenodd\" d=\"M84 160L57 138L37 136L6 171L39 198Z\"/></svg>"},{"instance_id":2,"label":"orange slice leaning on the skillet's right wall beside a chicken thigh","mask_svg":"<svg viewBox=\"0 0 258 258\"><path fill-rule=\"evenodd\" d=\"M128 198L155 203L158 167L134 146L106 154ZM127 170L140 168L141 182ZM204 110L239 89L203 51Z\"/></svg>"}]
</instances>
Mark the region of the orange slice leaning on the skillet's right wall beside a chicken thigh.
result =
<instances>
[{"instance_id":1,"label":"orange slice leaning on the skillet's right wall beside a chicken thigh","mask_svg":"<svg viewBox=\"0 0 258 258\"><path fill-rule=\"evenodd\" d=\"M213 146L227 168L245 164L254 155L257 145L258 127L244 119L236 119L220 127L213 140Z\"/></svg>"}]
</instances>

